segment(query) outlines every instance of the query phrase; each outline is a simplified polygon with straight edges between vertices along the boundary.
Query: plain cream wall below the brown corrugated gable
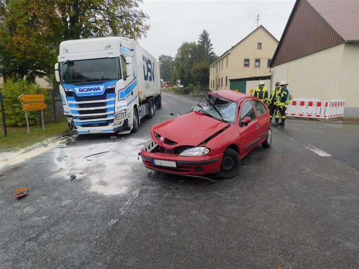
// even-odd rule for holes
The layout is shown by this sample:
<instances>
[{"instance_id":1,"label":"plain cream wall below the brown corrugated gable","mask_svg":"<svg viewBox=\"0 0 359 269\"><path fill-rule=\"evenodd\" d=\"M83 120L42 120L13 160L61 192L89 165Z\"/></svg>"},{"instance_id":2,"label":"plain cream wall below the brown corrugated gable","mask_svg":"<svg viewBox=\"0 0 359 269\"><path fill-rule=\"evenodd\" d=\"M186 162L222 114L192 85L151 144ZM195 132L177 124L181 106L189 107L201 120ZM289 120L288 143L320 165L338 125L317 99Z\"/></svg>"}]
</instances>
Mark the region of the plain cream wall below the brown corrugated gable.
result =
<instances>
[{"instance_id":1,"label":"plain cream wall below the brown corrugated gable","mask_svg":"<svg viewBox=\"0 0 359 269\"><path fill-rule=\"evenodd\" d=\"M272 81L286 80L293 98L345 99L359 116L358 55L358 43L341 43L273 67Z\"/></svg>"}]
</instances>

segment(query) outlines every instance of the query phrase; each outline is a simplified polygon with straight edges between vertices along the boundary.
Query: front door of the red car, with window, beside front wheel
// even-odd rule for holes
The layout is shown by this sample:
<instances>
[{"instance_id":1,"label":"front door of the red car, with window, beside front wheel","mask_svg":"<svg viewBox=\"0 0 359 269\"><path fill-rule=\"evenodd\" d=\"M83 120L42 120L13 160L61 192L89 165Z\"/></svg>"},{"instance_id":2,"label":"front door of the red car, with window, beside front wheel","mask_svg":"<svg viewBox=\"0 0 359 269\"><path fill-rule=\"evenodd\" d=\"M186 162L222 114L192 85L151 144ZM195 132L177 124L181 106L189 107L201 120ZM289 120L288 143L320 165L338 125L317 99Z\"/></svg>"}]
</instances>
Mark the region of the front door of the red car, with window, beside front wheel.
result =
<instances>
[{"instance_id":1,"label":"front door of the red car, with window, beside front wheel","mask_svg":"<svg viewBox=\"0 0 359 269\"><path fill-rule=\"evenodd\" d=\"M245 117L251 118L251 122L249 122L247 126L242 123ZM240 156L242 158L255 148L259 142L259 123L252 102L249 99L243 101L240 105L238 126L240 134Z\"/></svg>"}]
</instances>

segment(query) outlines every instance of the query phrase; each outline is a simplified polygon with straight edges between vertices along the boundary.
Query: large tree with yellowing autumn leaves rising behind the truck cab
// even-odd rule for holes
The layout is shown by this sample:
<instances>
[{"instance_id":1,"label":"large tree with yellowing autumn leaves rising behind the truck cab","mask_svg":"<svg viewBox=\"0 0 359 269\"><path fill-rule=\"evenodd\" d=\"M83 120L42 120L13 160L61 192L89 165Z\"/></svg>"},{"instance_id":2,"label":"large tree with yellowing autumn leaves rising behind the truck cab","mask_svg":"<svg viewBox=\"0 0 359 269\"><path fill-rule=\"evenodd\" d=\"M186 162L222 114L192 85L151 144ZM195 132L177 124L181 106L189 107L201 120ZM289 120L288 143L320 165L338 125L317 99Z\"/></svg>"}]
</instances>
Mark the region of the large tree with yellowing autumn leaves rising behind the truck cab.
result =
<instances>
[{"instance_id":1,"label":"large tree with yellowing autumn leaves rising behind the truck cab","mask_svg":"<svg viewBox=\"0 0 359 269\"><path fill-rule=\"evenodd\" d=\"M26 3L25 3L26 2ZM0 68L33 81L53 73L63 40L146 36L142 0L0 0Z\"/></svg>"}]
</instances>

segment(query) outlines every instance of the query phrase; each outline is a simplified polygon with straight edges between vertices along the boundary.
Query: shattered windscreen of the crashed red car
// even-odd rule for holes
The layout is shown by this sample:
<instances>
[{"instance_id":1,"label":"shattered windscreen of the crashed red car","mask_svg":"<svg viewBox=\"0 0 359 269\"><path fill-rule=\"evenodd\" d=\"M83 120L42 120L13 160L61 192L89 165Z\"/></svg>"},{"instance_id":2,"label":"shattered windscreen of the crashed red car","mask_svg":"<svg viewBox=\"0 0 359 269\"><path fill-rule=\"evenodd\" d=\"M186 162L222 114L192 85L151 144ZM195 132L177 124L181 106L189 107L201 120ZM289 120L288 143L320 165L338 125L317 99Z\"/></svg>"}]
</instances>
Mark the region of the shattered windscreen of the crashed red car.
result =
<instances>
[{"instance_id":1,"label":"shattered windscreen of the crashed red car","mask_svg":"<svg viewBox=\"0 0 359 269\"><path fill-rule=\"evenodd\" d=\"M208 95L207 106L195 105L191 111L198 111L220 121L233 124L236 120L237 102ZM211 102L210 105L208 102ZM219 114L218 114L219 112Z\"/></svg>"}]
</instances>

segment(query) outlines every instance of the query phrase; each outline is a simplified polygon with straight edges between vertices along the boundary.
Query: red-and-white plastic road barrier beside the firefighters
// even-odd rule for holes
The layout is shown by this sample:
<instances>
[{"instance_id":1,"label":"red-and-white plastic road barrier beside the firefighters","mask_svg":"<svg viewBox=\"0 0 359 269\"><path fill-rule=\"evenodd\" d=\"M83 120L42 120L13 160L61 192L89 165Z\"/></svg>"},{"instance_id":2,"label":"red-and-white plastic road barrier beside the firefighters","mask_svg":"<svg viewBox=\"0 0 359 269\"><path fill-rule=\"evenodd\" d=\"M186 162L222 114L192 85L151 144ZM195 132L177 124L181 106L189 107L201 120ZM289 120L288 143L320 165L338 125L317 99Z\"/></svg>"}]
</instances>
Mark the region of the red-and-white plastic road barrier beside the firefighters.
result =
<instances>
[{"instance_id":1,"label":"red-and-white plastic road barrier beside the firefighters","mask_svg":"<svg viewBox=\"0 0 359 269\"><path fill-rule=\"evenodd\" d=\"M286 116L304 118L336 118L344 114L345 100L293 99L287 105Z\"/></svg>"}]
</instances>

